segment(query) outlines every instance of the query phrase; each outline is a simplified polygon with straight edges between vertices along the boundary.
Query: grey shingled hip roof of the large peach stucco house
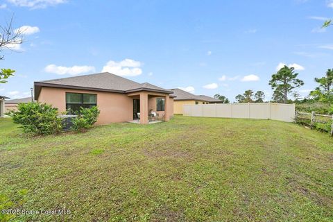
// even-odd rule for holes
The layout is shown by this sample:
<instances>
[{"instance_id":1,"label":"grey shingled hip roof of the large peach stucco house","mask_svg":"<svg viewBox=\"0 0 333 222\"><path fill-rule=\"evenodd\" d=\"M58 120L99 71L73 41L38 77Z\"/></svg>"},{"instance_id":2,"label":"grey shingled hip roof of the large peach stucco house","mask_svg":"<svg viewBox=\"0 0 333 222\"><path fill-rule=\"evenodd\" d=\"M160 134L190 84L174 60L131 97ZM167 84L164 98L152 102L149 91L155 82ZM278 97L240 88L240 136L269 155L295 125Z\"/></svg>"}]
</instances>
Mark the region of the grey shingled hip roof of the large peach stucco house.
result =
<instances>
[{"instance_id":1,"label":"grey shingled hip roof of the large peach stucco house","mask_svg":"<svg viewBox=\"0 0 333 222\"><path fill-rule=\"evenodd\" d=\"M35 82L35 98L38 98L42 86L119 93L145 90L173 94L172 91L157 87L156 85L152 85L150 83L140 84L127 78L110 74L108 72Z\"/></svg>"}]
</instances>

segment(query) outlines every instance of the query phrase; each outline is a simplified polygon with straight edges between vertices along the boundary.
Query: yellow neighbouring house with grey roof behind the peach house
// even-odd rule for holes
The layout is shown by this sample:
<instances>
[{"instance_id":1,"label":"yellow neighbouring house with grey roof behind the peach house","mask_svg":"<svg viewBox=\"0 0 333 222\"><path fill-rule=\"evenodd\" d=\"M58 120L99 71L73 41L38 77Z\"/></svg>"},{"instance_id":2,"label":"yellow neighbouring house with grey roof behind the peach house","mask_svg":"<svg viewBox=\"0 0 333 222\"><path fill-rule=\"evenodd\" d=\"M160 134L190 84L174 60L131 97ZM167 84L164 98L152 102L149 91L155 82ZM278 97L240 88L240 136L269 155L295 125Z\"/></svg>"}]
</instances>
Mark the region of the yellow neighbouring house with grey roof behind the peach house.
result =
<instances>
[{"instance_id":1,"label":"yellow neighbouring house with grey roof behind the peach house","mask_svg":"<svg viewBox=\"0 0 333 222\"><path fill-rule=\"evenodd\" d=\"M176 96L173 102L174 114L182 114L183 105L223 103L223 101L219 99L214 99L210 96L205 96L205 95L196 96L182 89L170 89L170 90L173 91L173 95Z\"/></svg>"}]
</instances>

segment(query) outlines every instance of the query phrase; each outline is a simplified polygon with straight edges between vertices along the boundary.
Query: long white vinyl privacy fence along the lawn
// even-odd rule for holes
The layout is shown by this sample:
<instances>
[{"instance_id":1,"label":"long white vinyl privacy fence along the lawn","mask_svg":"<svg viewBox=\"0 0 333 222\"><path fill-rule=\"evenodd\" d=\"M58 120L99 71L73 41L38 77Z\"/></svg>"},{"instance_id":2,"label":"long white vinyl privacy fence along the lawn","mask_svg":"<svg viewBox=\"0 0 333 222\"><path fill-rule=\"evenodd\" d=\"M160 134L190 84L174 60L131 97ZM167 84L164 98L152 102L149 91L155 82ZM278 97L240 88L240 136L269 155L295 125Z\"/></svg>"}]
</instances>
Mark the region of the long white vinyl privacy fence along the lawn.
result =
<instances>
[{"instance_id":1,"label":"long white vinyl privacy fence along the lawn","mask_svg":"<svg viewBox=\"0 0 333 222\"><path fill-rule=\"evenodd\" d=\"M295 119L295 104L228 103L184 105L182 114L189 117L275 119L292 122Z\"/></svg>"}]
</instances>

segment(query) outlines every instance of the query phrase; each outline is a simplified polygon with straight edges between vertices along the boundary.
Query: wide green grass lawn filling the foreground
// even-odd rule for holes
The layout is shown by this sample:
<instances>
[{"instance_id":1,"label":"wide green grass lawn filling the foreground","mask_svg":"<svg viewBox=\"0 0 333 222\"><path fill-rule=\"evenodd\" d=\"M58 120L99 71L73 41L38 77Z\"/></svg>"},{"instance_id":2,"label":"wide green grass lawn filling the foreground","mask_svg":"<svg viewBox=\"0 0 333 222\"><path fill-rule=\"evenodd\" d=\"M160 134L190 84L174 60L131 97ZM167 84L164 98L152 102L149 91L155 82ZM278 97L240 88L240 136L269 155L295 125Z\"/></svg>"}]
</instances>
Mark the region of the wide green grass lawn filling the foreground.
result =
<instances>
[{"instance_id":1,"label":"wide green grass lawn filling the foreground","mask_svg":"<svg viewBox=\"0 0 333 222\"><path fill-rule=\"evenodd\" d=\"M1 119L0 192L3 208L71 211L17 221L333 221L333 139L181 116L29 137Z\"/></svg>"}]
</instances>

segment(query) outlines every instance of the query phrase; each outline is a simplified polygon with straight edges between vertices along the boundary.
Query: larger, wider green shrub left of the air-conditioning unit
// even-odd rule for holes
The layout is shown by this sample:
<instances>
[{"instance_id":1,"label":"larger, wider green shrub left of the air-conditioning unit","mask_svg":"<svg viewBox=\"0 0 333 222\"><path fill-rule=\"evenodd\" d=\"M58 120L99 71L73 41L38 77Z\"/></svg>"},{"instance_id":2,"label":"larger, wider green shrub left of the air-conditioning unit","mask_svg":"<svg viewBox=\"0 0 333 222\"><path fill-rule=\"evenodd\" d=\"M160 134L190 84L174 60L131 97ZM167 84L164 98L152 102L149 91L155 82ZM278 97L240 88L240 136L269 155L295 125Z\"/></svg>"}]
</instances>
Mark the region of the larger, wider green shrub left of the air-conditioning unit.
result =
<instances>
[{"instance_id":1,"label":"larger, wider green shrub left of the air-conditioning unit","mask_svg":"<svg viewBox=\"0 0 333 222\"><path fill-rule=\"evenodd\" d=\"M19 103L17 111L8 114L15 123L22 125L24 133L50 135L62 130L58 109L45 103Z\"/></svg>"}]
</instances>

